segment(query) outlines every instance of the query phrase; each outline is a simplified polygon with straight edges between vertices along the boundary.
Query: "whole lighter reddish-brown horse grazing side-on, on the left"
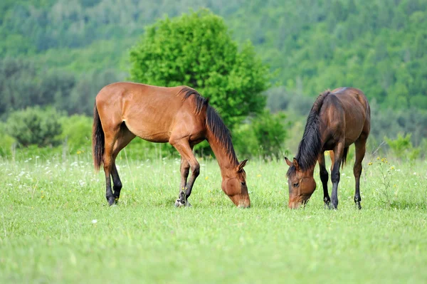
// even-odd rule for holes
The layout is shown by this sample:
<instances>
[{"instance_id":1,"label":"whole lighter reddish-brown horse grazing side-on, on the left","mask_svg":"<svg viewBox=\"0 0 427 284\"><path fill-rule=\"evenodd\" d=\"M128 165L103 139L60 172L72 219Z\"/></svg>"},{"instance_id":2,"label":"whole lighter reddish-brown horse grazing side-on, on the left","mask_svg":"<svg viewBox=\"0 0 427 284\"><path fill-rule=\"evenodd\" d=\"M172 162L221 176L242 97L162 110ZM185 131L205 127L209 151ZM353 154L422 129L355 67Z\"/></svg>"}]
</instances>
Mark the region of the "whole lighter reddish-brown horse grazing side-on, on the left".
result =
<instances>
[{"instance_id":1,"label":"whole lighter reddish-brown horse grazing side-on, on the left","mask_svg":"<svg viewBox=\"0 0 427 284\"><path fill-rule=\"evenodd\" d=\"M200 169L192 149L205 139L218 160L223 191L236 206L251 205L243 169L248 160L238 162L226 125L196 90L113 83L97 94L93 118L93 159L97 170L104 164L110 205L117 202L122 189L115 159L136 136L150 142L169 142L181 154L181 185L176 206L189 205L186 199Z\"/></svg>"}]
</instances>

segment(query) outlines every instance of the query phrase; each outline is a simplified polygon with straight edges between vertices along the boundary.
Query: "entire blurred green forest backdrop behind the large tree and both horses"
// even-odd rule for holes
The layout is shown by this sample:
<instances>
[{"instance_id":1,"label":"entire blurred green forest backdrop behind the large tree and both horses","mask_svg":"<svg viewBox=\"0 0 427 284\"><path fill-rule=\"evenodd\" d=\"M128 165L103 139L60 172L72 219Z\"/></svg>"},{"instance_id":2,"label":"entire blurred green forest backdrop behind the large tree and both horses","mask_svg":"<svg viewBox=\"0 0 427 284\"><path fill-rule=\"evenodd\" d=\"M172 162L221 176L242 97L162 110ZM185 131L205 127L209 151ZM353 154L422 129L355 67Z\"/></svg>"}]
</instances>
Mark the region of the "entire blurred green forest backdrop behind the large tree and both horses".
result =
<instances>
[{"instance_id":1,"label":"entire blurred green forest backdrop behind the large tree and both horses","mask_svg":"<svg viewBox=\"0 0 427 284\"><path fill-rule=\"evenodd\" d=\"M425 152L426 0L3 0L0 132L12 112L39 105L64 122L62 139L90 133L83 125L95 95L108 83L130 79L130 48L144 28L201 7L221 16L240 46L251 41L269 66L267 107L286 116L282 151L295 151L319 93L354 86L371 102L371 150L386 136L397 153L412 147ZM84 116L65 120L64 114ZM394 139L400 144L393 146Z\"/></svg>"}]
</instances>

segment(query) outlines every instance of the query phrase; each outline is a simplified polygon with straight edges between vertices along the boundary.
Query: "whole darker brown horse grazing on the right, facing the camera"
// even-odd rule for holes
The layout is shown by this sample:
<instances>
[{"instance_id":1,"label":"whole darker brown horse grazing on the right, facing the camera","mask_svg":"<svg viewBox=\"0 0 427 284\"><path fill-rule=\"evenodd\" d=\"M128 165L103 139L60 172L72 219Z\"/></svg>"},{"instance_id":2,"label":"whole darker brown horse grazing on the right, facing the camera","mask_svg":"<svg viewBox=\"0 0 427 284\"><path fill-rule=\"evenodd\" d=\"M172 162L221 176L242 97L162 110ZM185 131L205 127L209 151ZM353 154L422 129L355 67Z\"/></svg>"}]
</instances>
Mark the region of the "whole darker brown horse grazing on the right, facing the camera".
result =
<instances>
[{"instance_id":1,"label":"whole darker brown horse grazing on the right, facing the camera","mask_svg":"<svg viewBox=\"0 0 427 284\"><path fill-rule=\"evenodd\" d=\"M349 146L356 147L354 179L356 189L354 203L360 206L359 180L362 173L362 160L370 131L371 109L362 90L356 88L337 88L319 95L307 117L304 135L298 146L297 156L292 162L285 157L288 169L290 208L305 204L316 189L313 178L316 162L319 161L320 179L323 185L323 201L330 207L327 191L327 169L325 151L330 150L332 159L332 208L338 206L339 167L347 158Z\"/></svg>"}]
</instances>

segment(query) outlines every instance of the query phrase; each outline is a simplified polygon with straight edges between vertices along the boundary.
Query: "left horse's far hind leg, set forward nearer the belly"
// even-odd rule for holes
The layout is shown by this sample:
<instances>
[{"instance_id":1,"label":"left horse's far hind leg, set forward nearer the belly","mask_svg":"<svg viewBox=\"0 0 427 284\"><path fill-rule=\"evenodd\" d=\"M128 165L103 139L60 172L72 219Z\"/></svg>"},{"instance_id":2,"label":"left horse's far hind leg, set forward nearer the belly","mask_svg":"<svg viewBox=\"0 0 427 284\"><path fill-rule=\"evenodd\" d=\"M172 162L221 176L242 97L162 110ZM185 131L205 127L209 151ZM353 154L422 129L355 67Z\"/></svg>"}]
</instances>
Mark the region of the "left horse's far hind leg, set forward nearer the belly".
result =
<instances>
[{"instance_id":1,"label":"left horse's far hind leg, set forward nearer the belly","mask_svg":"<svg viewBox=\"0 0 427 284\"><path fill-rule=\"evenodd\" d=\"M122 125L120 125L120 132L117 135L117 140L115 142L114 148L112 150L112 171L111 171L111 177L112 177L112 189L114 189L114 202L117 204L117 201L120 199L120 191L122 190L122 181L120 180L119 173L117 172L116 167L116 158L119 152L127 146L133 139L135 138L135 135L130 132L130 130L127 129L125 122L122 122Z\"/></svg>"}]
</instances>

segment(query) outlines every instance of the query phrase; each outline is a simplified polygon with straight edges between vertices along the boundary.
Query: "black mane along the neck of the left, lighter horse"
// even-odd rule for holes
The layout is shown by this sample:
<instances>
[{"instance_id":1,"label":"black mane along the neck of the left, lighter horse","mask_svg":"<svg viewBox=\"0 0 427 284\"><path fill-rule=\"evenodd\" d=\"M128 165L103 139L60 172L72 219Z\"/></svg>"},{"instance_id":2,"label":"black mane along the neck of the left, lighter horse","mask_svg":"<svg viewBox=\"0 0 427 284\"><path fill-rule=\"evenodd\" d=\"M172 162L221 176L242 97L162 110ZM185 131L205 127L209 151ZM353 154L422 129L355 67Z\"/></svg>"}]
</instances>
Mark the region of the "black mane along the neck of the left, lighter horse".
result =
<instances>
[{"instance_id":1,"label":"black mane along the neck of the left, lighter horse","mask_svg":"<svg viewBox=\"0 0 427 284\"><path fill-rule=\"evenodd\" d=\"M231 142L230 130L228 130L214 107L209 105L209 99L203 98L196 90L189 87L182 88L182 90L179 91L179 94L181 93L184 93L184 98L182 100L186 100L191 95L195 96L196 115L199 115L201 110L203 110L204 105L206 105L206 127L211 130L216 140L218 140L221 146L226 149L226 153L228 154L228 157L231 159L233 164L238 164L236 152L234 152L233 143Z\"/></svg>"}]
</instances>

